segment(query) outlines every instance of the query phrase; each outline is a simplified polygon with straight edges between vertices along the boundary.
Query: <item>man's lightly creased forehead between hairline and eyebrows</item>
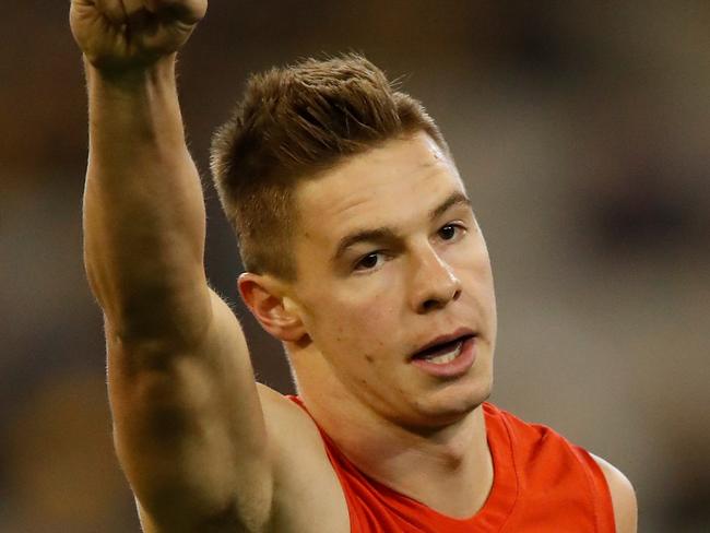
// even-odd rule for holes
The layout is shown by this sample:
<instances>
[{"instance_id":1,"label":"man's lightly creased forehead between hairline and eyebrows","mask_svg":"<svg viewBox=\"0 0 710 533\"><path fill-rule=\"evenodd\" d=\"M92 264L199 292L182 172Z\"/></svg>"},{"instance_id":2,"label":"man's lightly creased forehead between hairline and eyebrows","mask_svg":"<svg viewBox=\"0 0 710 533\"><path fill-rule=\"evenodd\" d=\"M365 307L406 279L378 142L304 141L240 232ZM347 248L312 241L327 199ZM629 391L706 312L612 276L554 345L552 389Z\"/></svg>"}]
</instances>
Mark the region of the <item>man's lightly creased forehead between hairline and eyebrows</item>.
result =
<instances>
[{"instance_id":1,"label":"man's lightly creased forehead between hairline and eyebrows","mask_svg":"<svg viewBox=\"0 0 710 533\"><path fill-rule=\"evenodd\" d=\"M354 229L405 227L464 192L453 163L426 133L389 141L296 189L300 232L333 241Z\"/></svg>"}]
</instances>

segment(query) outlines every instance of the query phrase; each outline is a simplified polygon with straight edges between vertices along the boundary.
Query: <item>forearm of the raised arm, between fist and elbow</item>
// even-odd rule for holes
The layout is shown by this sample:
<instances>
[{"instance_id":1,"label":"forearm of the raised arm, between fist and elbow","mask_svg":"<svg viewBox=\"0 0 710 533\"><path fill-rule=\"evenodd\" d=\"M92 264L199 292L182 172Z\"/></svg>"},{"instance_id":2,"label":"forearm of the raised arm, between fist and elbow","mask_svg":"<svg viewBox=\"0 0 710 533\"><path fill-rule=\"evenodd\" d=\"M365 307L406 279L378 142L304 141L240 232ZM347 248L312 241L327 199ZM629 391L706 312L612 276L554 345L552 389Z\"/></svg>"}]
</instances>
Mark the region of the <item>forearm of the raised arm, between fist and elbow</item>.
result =
<instances>
[{"instance_id":1,"label":"forearm of the raised arm, between fist and elbow","mask_svg":"<svg viewBox=\"0 0 710 533\"><path fill-rule=\"evenodd\" d=\"M120 335L197 335L206 321L194 318L209 316L205 213L174 57L121 75L86 70L84 256L92 289Z\"/></svg>"}]
</instances>

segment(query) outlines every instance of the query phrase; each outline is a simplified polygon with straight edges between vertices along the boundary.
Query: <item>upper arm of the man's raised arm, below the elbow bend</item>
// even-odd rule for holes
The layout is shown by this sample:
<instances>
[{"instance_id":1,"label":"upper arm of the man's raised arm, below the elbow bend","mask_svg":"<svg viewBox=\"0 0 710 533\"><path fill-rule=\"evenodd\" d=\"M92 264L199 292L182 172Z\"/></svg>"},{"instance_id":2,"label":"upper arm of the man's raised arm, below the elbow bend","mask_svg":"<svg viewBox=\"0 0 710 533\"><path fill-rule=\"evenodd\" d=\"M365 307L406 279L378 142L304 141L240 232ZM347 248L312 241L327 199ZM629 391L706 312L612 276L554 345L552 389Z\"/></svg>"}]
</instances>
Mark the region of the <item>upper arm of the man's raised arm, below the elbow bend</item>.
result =
<instances>
[{"instance_id":1,"label":"upper arm of the man's raised arm, below the elbow bend","mask_svg":"<svg viewBox=\"0 0 710 533\"><path fill-rule=\"evenodd\" d=\"M228 306L209 294L208 327L191 343L125 342L107 324L116 447L155 531L258 522L269 512L270 448L246 341Z\"/></svg>"}]
</instances>

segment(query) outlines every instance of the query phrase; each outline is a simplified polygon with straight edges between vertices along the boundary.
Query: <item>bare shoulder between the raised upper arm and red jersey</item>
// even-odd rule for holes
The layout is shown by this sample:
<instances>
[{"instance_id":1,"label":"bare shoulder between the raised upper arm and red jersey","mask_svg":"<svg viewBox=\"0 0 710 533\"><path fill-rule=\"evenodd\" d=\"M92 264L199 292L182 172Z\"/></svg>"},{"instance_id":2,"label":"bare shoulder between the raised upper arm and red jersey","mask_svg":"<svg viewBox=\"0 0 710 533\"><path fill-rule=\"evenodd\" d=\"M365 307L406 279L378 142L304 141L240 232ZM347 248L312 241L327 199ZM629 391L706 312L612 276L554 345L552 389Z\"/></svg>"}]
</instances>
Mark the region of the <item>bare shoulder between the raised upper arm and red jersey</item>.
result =
<instances>
[{"instance_id":1,"label":"bare shoulder between the raised upper arm and red jersey","mask_svg":"<svg viewBox=\"0 0 710 533\"><path fill-rule=\"evenodd\" d=\"M257 388L274 469L271 531L350 532L345 496L318 426L283 394L263 384Z\"/></svg>"}]
</instances>

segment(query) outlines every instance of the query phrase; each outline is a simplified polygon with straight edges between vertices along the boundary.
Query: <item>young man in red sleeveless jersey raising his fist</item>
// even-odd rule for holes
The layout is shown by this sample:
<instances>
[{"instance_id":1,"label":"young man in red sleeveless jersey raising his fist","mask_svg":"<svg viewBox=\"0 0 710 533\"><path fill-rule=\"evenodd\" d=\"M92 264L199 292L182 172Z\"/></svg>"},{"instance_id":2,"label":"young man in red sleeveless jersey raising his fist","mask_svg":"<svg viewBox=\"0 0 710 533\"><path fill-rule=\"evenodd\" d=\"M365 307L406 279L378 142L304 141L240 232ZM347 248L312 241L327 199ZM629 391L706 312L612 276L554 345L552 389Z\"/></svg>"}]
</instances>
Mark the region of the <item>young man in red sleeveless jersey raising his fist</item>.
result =
<instances>
[{"instance_id":1,"label":"young man in red sleeveless jersey raising his fist","mask_svg":"<svg viewBox=\"0 0 710 533\"><path fill-rule=\"evenodd\" d=\"M85 261L144 530L636 531L617 470L484 404L485 241L436 125L363 58L252 79L215 138L239 291L283 342L299 398L255 383L205 280L175 87L175 54L205 10L71 10L90 95Z\"/></svg>"}]
</instances>

